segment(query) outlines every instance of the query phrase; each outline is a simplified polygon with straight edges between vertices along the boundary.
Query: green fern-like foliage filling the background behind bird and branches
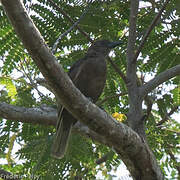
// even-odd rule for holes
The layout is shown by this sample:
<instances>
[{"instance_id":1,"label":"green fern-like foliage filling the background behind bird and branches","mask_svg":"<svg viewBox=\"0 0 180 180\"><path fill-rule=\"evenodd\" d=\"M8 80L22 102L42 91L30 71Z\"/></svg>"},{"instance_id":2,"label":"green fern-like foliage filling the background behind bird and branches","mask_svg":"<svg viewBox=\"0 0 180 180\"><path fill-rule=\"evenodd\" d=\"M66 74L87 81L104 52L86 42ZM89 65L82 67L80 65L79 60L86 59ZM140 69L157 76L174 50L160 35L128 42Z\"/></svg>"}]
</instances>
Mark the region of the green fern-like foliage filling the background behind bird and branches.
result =
<instances>
[{"instance_id":1,"label":"green fern-like foliage filling the background behind bird and branches","mask_svg":"<svg viewBox=\"0 0 180 180\"><path fill-rule=\"evenodd\" d=\"M76 22L87 8L89 1L76 0L24 0L24 5L31 19L52 49L60 35L66 32L72 22L62 14L62 10ZM162 7L162 1L141 7L137 22L137 48L149 28L152 19ZM85 17L78 26L86 32L93 40L109 39L121 40L123 45L114 50L112 59L114 63L126 73L126 48L129 27L128 0L92 1ZM61 10L59 10L59 8ZM157 26L153 29L138 57L137 70L142 74L145 81L155 75L180 64L179 35L180 35L180 13L179 1L172 0L163 12ZM89 46L89 41L75 27L58 43L55 56L58 62L68 71L73 62L82 58ZM13 27L0 6L0 101L12 103L22 107L38 107L42 104L54 105L53 93L44 91L37 79L42 75L33 63L27 50L16 36ZM9 80L9 85L4 79ZM179 105L179 77L166 82L164 88L159 87L150 96L154 98L156 106L151 111L146 122L147 137L149 144L160 161L165 174L171 173L173 178L177 177L176 161L170 158L170 153L177 155L177 144L179 143L179 124L173 118L159 128L157 123L161 121L174 106ZM145 82L143 82L145 83ZM171 86L172 88L167 89ZM174 89L174 90L173 90ZM172 90L172 91L171 91ZM126 85L112 66L108 64L107 82L101 99L113 96L101 104L108 113L118 112L126 114L129 108L128 96L118 96L127 92ZM11 93L11 95L10 95ZM117 96L116 96L117 95ZM146 107L144 107L144 112ZM178 112L178 108L175 112ZM126 122L125 122L126 123ZM0 153L5 159L8 147L11 145L11 136L16 134L14 142L20 148L13 156L22 163L0 165L1 168L15 174L38 176L39 179L96 179L99 171L107 179L111 170L116 170L121 161L112 149L93 142L77 133L74 133L66 156L62 160L53 159L50 156L54 127L44 127L16 121L0 120ZM110 153L108 160L102 166L96 164L96 160ZM171 168L170 168L171 167Z\"/></svg>"}]
</instances>

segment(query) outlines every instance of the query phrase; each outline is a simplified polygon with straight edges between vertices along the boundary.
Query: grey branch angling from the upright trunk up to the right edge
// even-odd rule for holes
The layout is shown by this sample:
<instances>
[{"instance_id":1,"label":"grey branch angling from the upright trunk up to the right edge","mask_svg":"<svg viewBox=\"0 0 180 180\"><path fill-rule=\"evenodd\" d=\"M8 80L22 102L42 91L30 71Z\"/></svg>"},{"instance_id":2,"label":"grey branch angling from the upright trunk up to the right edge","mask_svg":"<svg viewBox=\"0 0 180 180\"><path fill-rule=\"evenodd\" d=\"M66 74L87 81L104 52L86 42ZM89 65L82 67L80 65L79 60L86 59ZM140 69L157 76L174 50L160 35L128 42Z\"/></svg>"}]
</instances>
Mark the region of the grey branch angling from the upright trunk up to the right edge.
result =
<instances>
[{"instance_id":1,"label":"grey branch angling from the upright trunk up to the right edge","mask_svg":"<svg viewBox=\"0 0 180 180\"><path fill-rule=\"evenodd\" d=\"M169 79L180 75L180 65L176 65L162 73L160 73L159 75L157 75L155 78L153 78L152 80L150 80L149 82L147 82L145 85L143 85L140 88L140 95L146 96L149 92L151 92L153 89L155 89L157 86L159 86L160 84L168 81Z\"/></svg>"}]
</instances>

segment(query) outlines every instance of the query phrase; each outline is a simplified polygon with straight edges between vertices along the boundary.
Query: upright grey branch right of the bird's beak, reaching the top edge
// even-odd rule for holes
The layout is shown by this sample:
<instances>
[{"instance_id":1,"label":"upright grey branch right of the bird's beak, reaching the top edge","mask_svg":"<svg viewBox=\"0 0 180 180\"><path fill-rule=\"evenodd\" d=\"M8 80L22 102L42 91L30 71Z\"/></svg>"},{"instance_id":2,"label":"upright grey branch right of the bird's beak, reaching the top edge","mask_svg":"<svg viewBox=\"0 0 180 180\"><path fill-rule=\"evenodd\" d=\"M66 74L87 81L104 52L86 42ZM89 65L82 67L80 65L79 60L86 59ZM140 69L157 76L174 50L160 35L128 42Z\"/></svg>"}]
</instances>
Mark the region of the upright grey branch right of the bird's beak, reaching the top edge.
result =
<instances>
[{"instance_id":1,"label":"upright grey branch right of the bird's beak, reaching the top edge","mask_svg":"<svg viewBox=\"0 0 180 180\"><path fill-rule=\"evenodd\" d=\"M144 122L142 121L142 98L139 94L138 78L136 75L136 62L133 61L136 42L136 21L138 14L139 0L131 0L129 18L129 37L127 46L127 89L129 97L128 125L136 131L143 139L146 139Z\"/></svg>"}]
</instances>

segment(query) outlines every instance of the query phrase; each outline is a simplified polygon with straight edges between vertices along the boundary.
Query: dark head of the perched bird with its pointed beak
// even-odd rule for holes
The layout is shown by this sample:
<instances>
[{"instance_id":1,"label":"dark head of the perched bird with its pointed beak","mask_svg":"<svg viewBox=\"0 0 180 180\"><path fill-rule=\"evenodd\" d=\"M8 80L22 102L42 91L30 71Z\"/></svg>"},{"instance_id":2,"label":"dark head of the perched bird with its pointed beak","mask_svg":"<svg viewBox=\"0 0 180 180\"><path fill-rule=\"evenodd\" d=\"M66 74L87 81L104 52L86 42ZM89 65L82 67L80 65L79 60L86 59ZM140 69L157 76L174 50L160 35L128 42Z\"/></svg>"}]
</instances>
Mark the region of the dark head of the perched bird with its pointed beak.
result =
<instances>
[{"instance_id":1,"label":"dark head of the perched bird with its pointed beak","mask_svg":"<svg viewBox=\"0 0 180 180\"><path fill-rule=\"evenodd\" d=\"M88 49L88 54L94 55L104 55L107 56L111 49L115 48L116 46L121 45L121 41L108 41L108 40L97 40L95 41L91 47Z\"/></svg>"}]
</instances>

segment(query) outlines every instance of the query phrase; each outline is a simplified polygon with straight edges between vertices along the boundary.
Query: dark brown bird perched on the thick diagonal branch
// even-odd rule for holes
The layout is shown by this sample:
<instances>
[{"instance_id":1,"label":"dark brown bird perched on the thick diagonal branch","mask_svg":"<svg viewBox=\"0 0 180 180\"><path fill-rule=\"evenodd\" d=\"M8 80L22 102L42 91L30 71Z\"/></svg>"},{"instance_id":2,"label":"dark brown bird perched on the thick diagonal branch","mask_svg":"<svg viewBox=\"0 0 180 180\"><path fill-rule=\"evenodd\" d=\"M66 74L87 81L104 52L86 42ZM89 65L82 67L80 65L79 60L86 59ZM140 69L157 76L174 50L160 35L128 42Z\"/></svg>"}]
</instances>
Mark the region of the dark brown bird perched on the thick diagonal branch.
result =
<instances>
[{"instance_id":1,"label":"dark brown bird perched on the thick diagonal branch","mask_svg":"<svg viewBox=\"0 0 180 180\"><path fill-rule=\"evenodd\" d=\"M95 103L103 92L106 82L106 57L109 52L120 45L121 41L97 40L89 47L83 58L76 61L68 75L76 88ZM58 108L56 134L53 139L51 154L62 159L68 147L73 125L78 120L62 105Z\"/></svg>"}]
</instances>

